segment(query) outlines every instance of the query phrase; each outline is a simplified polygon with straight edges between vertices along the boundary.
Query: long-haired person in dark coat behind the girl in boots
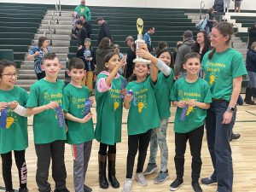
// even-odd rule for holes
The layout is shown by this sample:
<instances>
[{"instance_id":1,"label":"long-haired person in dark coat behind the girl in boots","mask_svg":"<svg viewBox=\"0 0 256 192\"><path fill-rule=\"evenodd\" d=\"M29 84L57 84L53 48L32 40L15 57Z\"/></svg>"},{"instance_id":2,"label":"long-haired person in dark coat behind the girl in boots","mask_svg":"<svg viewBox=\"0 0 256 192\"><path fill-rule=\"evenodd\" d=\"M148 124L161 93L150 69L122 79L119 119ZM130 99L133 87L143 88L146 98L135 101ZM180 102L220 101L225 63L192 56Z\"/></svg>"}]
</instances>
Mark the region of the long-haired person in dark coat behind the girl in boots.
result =
<instances>
[{"instance_id":1,"label":"long-haired person in dark coat behind the girl in boots","mask_svg":"<svg viewBox=\"0 0 256 192\"><path fill-rule=\"evenodd\" d=\"M110 48L110 39L102 38L98 48L96 49L96 74L99 74L103 71L104 63L103 58L108 53L113 52L113 49Z\"/></svg>"}]
</instances>

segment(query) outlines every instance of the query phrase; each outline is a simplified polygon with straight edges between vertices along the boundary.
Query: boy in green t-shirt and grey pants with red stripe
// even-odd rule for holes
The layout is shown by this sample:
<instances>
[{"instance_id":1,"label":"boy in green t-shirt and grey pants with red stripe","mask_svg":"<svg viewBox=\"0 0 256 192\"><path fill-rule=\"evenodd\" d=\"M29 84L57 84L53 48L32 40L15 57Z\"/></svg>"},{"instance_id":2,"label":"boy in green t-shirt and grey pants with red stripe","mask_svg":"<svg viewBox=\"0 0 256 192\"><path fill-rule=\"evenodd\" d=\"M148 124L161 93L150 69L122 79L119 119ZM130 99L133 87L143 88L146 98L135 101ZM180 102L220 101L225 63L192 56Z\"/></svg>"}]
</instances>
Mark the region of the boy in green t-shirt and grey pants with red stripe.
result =
<instances>
[{"instance_id":1,"label":"boy in green t-shirt and grey pants with red stripe","mask_svg":"<svg viewBox=\"0 0 256 192\"><path fill-rule=\"evenodd\" d=\"M71 59L67 74L71 77L71 82L63 90L63 111L67 119L67 143L72 145L73 150L74 189L75 192L90 192L92 189L84 185L84 181L94 129L91 113L85 115L84 104L87 100L93 103L93 98L90 97L90 90L81 85L85 75L84 61L79 58Z\"/></svg>"}]
</instances>

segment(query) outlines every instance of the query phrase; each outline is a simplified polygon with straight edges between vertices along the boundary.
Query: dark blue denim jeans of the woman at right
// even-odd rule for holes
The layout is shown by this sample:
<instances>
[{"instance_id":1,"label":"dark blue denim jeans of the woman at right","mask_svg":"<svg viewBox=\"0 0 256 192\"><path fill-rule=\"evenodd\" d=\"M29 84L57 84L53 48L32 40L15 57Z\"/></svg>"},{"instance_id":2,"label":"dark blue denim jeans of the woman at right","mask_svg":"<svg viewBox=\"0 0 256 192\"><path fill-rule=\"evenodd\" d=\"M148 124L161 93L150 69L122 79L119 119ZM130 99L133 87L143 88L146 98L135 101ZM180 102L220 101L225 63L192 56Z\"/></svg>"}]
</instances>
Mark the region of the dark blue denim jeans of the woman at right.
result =
<instances>
[{"instance_id":1,"label":"dark blue denim jeans of the woman at right","mask_svg":"<svg viewBox=\"0 0 256 192\"><path fill-rule=\"evenodd\" d=\"M218 182L218 192L231 192L233 185L230 134L236 118L233 115L230 124L222 124L228 106L229 102L224 100L212 101L211 108L207 110L207 143L214 168L211 177Z\"/></svg>"}]
</instances>

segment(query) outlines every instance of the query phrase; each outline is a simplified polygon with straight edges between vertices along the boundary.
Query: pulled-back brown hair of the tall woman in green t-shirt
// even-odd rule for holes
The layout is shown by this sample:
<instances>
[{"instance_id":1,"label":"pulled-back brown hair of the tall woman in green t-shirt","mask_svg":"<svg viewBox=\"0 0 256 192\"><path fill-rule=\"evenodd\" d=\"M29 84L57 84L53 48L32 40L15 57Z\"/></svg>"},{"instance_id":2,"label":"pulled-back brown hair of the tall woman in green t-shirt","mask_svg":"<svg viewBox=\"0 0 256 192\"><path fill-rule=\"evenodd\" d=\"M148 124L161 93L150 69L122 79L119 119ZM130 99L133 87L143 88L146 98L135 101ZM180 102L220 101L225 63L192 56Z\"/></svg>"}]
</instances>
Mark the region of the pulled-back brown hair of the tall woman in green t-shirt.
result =
<instances>
[{"instance_id":1,"label":"pulled-back brown hair of the tall woman in green t-shirt","mask_svg":"<svg viewBox=\"0 0 256 192\"><path fill-rule=\"evenodd\" d=\"M222 34L224 37L229 36L229 39L226 41L226 44L230 44L233 31L233 25L228 22L221 22L216 26L213 26L213 28L217 29L220 34ZM208 55L208 59L212 59L212 56L214 55L216 49L212 49L211 53Z\"/></svg>"}]
</instances>

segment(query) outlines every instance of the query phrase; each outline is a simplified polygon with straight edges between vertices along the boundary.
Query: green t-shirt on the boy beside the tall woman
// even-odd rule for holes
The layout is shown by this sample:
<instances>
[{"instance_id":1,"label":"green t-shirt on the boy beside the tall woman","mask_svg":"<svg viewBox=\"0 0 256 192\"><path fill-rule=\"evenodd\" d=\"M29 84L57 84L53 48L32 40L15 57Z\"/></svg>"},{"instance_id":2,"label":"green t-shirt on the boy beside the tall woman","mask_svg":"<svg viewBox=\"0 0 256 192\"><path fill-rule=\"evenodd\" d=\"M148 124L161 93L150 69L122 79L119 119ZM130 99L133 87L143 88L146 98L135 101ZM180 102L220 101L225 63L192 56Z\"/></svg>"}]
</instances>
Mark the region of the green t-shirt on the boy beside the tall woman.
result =
<instances>
[{"instance_id":1,"label":"green t-shirt on the boy beside the tall woman","mask_svg":"<svg viewBox=\"0 0 256 192\"><path fill-rule=\"evenodd\" d=\"M171 101L188 101L194 99L196 102L212 102L210 86L206 80L198 78L194 83L186 81L185 77L177 79L172 86ZM184 121L180 119L183 108L177 108L174 119L174 131L186 133L193 131L204 124L207 117L207 110L202 108L189 107Z\"/></svg>"}]
</instances>

